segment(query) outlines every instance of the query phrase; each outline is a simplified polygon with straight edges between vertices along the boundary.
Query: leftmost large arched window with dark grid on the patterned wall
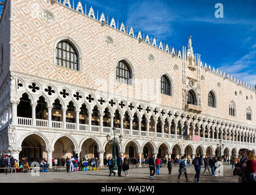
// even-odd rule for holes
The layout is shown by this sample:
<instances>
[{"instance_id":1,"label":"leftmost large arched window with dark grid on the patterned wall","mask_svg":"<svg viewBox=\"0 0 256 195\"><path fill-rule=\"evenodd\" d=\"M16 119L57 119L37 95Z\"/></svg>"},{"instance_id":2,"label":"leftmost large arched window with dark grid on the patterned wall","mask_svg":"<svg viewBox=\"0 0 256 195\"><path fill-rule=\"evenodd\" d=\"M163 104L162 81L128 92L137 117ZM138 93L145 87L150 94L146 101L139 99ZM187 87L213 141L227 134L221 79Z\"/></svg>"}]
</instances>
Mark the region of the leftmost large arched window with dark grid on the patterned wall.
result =
<instances>
[{"instance_id":1,"label":"leftmost large arched window with dark grid on the patterned wall","mask_svg":"<svg viewBox=\"0 0 256 195\"><path fill-rule=\"evenodd\" d=\"M56 64L58 66L80 71L77 49L68 40L60 41L56 46Z\"/></svg>"}]
</instances>

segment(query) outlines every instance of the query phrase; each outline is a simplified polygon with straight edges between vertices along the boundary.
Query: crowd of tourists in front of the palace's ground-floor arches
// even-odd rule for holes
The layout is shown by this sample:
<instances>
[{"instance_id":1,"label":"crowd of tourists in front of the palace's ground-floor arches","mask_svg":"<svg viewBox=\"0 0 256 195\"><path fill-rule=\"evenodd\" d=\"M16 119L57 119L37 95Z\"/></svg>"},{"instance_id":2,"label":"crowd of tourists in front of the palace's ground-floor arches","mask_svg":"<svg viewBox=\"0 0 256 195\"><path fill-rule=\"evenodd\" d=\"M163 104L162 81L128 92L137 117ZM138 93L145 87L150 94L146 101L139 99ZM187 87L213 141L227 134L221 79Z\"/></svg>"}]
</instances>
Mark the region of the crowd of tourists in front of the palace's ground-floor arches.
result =
<instances>
[{"instance_id":1,"label":"crowd of tourists in front of the palace's ground-floor arches","mask_svg":"<svg viewBox=\"0 0 256 195\"><path fill-rule=\"evenodd\" d=\"M218 158L217 158L218 159ZM201 167L204 166L203 174L206 175L209 172L211 177L216 176L216 168L217 168L217 159L213 155L206 156L202 158L200 154L197 154L197 157L192 160L192 165L195 169L195 176L194 182L200 183L200 172ZM225 158L222 158L222 162L224 162ZM0 155L0 172L12 172L13 168L20 168L21 172L28 172L29 168L32 165L32 162L38 162L40 167L42 168L42 172L47 172L49 168L49 164L46 158L42 160L33 159L24 157L21 158L19 161L12 157L10 154L1 154ZM249 151L247 149L240 149L239 150L239 159L233 157L232 159L228 159L228 164L232 165L233 176L239 176L239 182L256 182L255 172L256 172L256 164L255 164L255 152ZM129 166L130 165L138 165L140 162L139 158L123 158L122 155L119 156L116 160L112 157L104 157L104 165L107 165L109 168L109 176L112 174L115 176L116 172L114 170L115 166L117 167L118 177L122 177L121 172L124 172L125 177L129 177ZM181 157L181 159L175 158L170 159L168 161L165 157L156 157L154 154L151 157L145 155L145 158L141 159L141 164L149 166L150 172L150 179L154 179L154 174L160 175L160 168L163 164L167 165L168 174L171 174L172 166L177 164L179 166L178 169L178 179L177 182L180 182L180 177L184 173L186 178L186 182L189 182L187 177L187 168L190 168L190 159L185 156ZM67 157L65 158L54 158L52 159L53 167L66 167L67 172L74 172L74 171L99 171L99 159L96 158L89 158L88 154L85 154L83 158L78 158L76 155L75 157ZM192 166L191 165L191 166Z\"/></svg>"}]
</instances>

